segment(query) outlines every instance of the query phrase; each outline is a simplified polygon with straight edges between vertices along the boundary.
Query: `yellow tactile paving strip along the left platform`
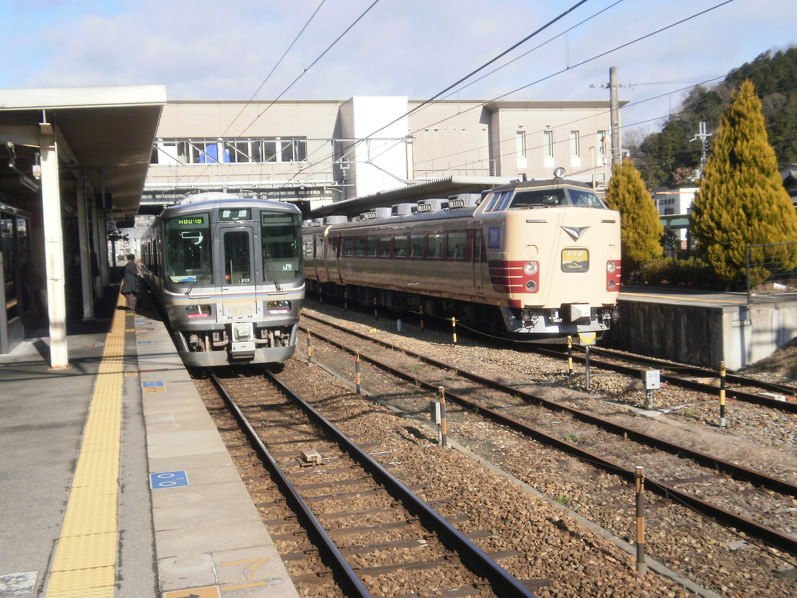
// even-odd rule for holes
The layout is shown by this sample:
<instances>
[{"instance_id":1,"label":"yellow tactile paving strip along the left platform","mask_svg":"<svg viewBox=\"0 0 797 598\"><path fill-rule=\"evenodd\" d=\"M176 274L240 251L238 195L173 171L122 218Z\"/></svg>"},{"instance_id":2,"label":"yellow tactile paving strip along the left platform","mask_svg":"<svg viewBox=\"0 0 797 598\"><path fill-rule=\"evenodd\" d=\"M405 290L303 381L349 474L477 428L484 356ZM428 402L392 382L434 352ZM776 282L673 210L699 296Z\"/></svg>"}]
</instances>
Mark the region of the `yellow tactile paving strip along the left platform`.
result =
<instances>
[{"instance_id":1,"label":"yellow tactile paving strip along the left platform","mask_svg":"<svg viewBox=\"0 0 797 598\"><path fill-rule=\"evenodd\" d=\"M45 598L113 598L125 313L116 309L105 339Z\"/></svg>"}]
</instances>

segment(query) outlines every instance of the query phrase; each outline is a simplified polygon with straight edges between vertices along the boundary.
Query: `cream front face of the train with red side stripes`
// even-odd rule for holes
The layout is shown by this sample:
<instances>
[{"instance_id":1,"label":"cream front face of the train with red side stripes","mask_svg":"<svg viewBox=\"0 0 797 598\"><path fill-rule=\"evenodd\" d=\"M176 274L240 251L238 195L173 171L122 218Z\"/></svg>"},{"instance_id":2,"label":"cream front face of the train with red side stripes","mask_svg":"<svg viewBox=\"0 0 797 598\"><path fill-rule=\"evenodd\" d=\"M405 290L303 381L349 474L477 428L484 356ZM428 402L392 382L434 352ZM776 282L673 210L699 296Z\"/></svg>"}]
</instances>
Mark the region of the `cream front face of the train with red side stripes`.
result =
<instances>
[{"instance_id":1,"label":"cream front face of the train with red side stripes","mask_svg":"<svg viewBox=\"0 0 797 598\"><path fill-rule=\"evenodd\" d=\"M518 183L485 198L493 292L508 300L502 311L511 332L533 340L600 336L618 315L620 215L583 183L545 183Z\"/></svg>"}]
</instances>

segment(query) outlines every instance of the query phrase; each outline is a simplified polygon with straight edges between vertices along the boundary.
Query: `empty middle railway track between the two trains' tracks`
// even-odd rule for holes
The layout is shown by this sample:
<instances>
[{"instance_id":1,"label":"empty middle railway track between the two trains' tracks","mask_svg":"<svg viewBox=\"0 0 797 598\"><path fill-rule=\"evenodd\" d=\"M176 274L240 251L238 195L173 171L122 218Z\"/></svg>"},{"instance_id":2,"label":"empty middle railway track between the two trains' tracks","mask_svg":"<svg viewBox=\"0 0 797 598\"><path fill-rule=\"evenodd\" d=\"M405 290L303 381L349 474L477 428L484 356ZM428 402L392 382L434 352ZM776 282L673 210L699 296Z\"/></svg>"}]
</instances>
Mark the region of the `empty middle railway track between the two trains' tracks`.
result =
<instances>
[{"instance_id":1,"label":"empty middle railway track between the two trains' tracks","mask_svg":"<svg viewBox=\"0 0 797 598\"><path fill-rule=\"evenodd\" d=\"M444 374L455 373L458 377L468 380L469 383L475 382L484 388L501 391L501 393L505 395L503 399L487 401L486 403L483 399L474 400L471 396L465 396L465 392L452 392L449 390L446 392L446 395L454 403L457 403L469 411L473 411L482 417L490 419L494 423L498 423L517 433L530 437L548 447L554 447L566 454L575 456L583 460L583 462L598 466L604 471L616 474L620 478L626 480L626 482L632 482L634 479L633 465L626 466L618 462L617 458L608 458L611 456L611 450L613 450L611 447L616 449L618 441L621 445L629 443L628 441L638 443L638 445L640 445L638 450L626 446L622 448L630 451L629 456L636 455L638 457L638 454L641 453L646 454L645 460L647 462L662 462L665 464L665 467L663 467L665 471L669 469L671 472L691 472L691 474L676 474L673 478L669 479L649 477L648 482L650 489L654 490L663 500L675 501L688 506L690 509L693 509L697 513L701 513L701 515L705 517L709 517L713 521L743 531L750 537L757 538L765 544L774 546L786 553L797 555L797 536L791 533L792 529L797 529L797 527L795 527L797 521L794 521L794 517L791 515L795 510L793 507L795 503L797 503L797 501L794 501L794 498L797 497L797 486L791 482L752 470L748 467L724 461L710 454L701 453L700 451L689 449L688 447L681 447L676 443L670 443L669 441L656 438L652 435L646 435L634 428L624 427L618 423L600 418L597 415L592 415L591 413L544 399L539 395L524 391L520 388L515 388L509 384L498 382L497 380L486 378L485 376L479 376L478 374L468 372L452 364L446 364L440 360L433 359L429 356L423 356L417 352L412 352L391 343L375 340L371 336L325 321L322 318L312 317L306 313L304 317L316 321L320 325L328 326L338 332L344 332L347 335L355 336L359 340L366 340L370 344L402 352L404 355L410 356L414 360L419 360L438 370L436 375L430 372L429 376L422 378L418 376L417 370L413 370L411 367L401 368L393 364L387 364L385 362L386 360L380 359L374 354L376 351L360 352L360 356L363 360L367 360L378 368L383 369L383 371L390 372L392 376L396 376L402 380L408 380L418 385L418 387L426 388L426 390L429 391L437 391L440 385L439 380L446 378ZM337 340L332 339L328 335L320 333L317 327L312 333L321 340L335 345L337 348L343 349L344 351L354 352L356 348L363 348L362 345L355 348L351 346L351 344L341 342L340 338ZM436 380L430 380L430 378L436 378ZM447 376L447 378L452 380L452 376ZM446 386L449 386L449 384L446 383ZM469 395L473 394L472 389L466 392ZM508 397L516 397L519 399L520 403L534 403L550 412L567 414L574 422L578 423L579 427L583 428L583 425L587 424L590 427L598 428L607 435L613 436L613 441L606 444L604 442L599 442L599 440L605 439L595 437L595 441L593 441L590 446L592 450L587 450L587 446L589 445L581 444L579 446L579 444L575 442L563 439L562 435L553 435L548 431L543 431L541 428L544 426L532 425L529 423L528 416L523 414L520 403L515 405L501 404L507 402L508 399L506 395L508 395ZM496 406L491 403L498 403L498 405ZM583 429L575 430L572 427L569 427L568 431L574 433L564 436L572 436L573 439L575 439L577 435L582 436L595 433L594 431L584 431ZM601 447L602 444L606 444L606 446ZM650 450L645 450L645 447L648 447ZM602 449L603 454L596 454L593 452L595 448ZM622 454L622 450L620 452ZM665 463L666 460L662 459L661 454L658 454L660 452L667 454L669 462ZM628 461L627 458L622 460ZM697 466L693 465L693 463L697 464ZM738 482L744 483L742 486L739 486ZM689 491L683 490L678 486L689 488ZM731 490L731 487L732 491L728 492L728 490ZM786 508L773 508L769 509L772 513L761 513L760 510L753 511L750 505L744 503L744 497L761 493L768 494L768 501L770 501L771 505L780 505ZM702 498L698 496L698 494L701 494ZM720 505L717 504L717 502L724 504ZM780 511L780 513L775 513L775 511ZM785 517L783 513L786 513Z\"/></svg>"}]
</instances>

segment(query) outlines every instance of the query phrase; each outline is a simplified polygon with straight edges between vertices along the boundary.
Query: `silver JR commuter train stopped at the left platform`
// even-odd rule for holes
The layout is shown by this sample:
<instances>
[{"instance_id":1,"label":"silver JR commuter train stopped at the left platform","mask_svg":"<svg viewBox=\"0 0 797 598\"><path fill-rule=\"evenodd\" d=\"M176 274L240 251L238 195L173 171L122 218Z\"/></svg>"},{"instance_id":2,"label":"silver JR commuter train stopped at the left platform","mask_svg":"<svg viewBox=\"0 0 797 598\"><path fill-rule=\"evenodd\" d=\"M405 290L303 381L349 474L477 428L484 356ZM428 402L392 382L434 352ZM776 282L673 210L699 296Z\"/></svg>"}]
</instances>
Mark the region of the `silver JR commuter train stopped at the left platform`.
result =
<instances>
[{"instance_id":1,"label":"silver JR commuter train stopped at the left platform","mask_svg":"<svg viewBox=\"0 0 797 598\"><path fill-rule=\"evenodd\" d=\"M201 193L142 237L144 277L191 366L273 363L296 351L304 299L301 212L249 195Z\"/></svg>"}]
</instances>

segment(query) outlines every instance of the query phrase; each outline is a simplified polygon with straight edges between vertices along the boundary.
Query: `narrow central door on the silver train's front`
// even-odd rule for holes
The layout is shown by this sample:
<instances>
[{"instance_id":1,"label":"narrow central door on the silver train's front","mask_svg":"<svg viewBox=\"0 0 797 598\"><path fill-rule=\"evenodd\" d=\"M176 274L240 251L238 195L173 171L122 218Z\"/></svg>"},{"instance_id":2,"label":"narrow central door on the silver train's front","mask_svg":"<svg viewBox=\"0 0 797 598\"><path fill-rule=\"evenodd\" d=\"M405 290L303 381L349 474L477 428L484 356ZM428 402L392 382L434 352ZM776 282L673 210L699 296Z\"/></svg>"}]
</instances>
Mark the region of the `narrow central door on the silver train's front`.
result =
<instances>
[{"instance_id":1,"label":"narrow central door on the silver train's front","mask_svg":"<svg viewBox=\"0 0 797 598\"><path fill-rule=\"evenodd\" d=\"M257 233L251 226L221 226L219 243L222 277L222 317L248 320L257 316L255 287L255 242Z\"/></svg>"}]
</instances>

